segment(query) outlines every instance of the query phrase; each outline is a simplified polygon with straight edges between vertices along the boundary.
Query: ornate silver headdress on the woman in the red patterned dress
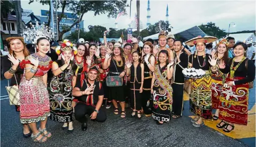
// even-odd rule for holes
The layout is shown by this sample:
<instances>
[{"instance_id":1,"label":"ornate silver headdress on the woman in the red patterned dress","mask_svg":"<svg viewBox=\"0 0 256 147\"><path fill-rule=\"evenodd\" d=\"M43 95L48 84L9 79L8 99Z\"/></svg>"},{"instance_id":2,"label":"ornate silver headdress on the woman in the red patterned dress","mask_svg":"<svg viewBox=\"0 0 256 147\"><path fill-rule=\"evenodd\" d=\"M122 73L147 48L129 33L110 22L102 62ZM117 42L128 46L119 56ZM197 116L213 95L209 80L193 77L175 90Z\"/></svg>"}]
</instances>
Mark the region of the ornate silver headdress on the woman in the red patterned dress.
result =
<instances>
[{"instance_id":1,"label":"ornate silver headdress on the woman in the red patterned dress","mask_svg":"<svg viewBox=\"0 0 256 147\"><path fill-rule=\"evenodd\" d=\"M28 28L26 26L26 29L21 34L22 37L24 37L24 41L26 43L33 43L36 44L36 41L40 37L46 37L49 41L54 38L54 32L52 31L52 28L45 26L44 22L42 25L38 24L38 21L36 21L35 25L32 25L32 22L29 23L31 25L31 28ZM36 52L36 45L35 45L35 52Z\"/></svg>"}]
</instances>

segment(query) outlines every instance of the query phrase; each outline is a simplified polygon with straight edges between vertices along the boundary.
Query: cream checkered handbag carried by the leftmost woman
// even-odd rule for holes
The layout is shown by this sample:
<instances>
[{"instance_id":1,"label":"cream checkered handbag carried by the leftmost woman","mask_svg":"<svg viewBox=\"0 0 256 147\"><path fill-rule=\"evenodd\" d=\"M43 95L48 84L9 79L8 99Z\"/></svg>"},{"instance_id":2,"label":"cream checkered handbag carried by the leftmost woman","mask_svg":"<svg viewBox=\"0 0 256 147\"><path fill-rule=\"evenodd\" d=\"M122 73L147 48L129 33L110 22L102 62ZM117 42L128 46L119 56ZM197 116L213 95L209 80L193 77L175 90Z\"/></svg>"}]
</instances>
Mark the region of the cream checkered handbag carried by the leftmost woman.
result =
<instances>
[{"instance_id":1,"label":"cream checkered handbag carried by the leftmost woman","mask_svg":"<svg viewBox=\"0 0 256 147\"><path fill-rule=\"evenodd\" d=\"M10 105L20 105L20 95L19 95L19 88L18 88L18 82L16 79L16 75L14 74L14 78L16 80L17 85L10 86L9 80L8 80L8 86L6 86L7 93L9 95L9 102Z\"/></svg>"}]
</instances>

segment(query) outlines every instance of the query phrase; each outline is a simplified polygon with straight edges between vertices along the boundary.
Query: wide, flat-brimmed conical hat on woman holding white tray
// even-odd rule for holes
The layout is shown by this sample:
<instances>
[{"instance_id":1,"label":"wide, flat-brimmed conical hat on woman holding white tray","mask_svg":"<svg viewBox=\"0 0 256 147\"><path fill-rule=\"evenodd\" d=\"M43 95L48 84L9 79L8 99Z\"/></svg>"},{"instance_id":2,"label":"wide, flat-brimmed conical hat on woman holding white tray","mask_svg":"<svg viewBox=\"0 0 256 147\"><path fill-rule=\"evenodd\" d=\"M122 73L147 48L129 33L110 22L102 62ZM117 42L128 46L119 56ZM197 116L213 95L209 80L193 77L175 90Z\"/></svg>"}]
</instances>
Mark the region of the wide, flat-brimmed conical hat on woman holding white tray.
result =
<instances>
[{"instance_id":1,"label":"wide, flat-brimmed conical hat on woman holding white tray","mask_svg":"<svg viewBox=\"0 0 256 147\"><path fill-rule=\"evenodd\" d=\"M216 40L218 40L218 38L213 37L213 36L204 36L204 37L197 36L197 37L192 38L189 41L186 41L185 44L194 45L194 44L197 44L199 42L201 42L201 43L210 43L210 42L214 42Z\"/></svg>"}]
</instances>

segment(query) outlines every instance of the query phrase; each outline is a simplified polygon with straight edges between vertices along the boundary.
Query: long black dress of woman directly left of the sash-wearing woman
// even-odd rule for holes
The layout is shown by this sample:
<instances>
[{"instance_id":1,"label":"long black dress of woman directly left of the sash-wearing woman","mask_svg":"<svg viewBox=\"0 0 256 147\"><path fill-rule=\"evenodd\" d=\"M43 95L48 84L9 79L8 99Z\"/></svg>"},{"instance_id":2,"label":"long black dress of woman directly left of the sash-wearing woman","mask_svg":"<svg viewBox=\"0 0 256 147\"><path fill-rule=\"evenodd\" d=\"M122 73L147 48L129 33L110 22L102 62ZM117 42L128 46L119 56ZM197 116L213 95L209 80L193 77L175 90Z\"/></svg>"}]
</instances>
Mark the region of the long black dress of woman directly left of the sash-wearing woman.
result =
<instances>
[{"instance_id":1,"label":"long black dress of woman directly left of the sash-wearing woman","mask_svg":"<svg viewBox=\"0 0 256 147\"><path fill-rule=\"evenodd\" d=\"M147 63L144 60L145 56L144 56L143 60L141 61L141 63L144 64L144 84L143 84L141 105L142 105L142 109L144 111L144 114L149 115L149 114L152 114L152 111L150 110L151 108L147 107L147 102L151 98L150 90L151 90L151 81L152 81L152 78L153 78L153 72L151 72L150 69L148 68ZM152 56L153 55L151 54L148 58L149 63L150 63L150 59L151 59Z\"/></svg>"}]
</instances>

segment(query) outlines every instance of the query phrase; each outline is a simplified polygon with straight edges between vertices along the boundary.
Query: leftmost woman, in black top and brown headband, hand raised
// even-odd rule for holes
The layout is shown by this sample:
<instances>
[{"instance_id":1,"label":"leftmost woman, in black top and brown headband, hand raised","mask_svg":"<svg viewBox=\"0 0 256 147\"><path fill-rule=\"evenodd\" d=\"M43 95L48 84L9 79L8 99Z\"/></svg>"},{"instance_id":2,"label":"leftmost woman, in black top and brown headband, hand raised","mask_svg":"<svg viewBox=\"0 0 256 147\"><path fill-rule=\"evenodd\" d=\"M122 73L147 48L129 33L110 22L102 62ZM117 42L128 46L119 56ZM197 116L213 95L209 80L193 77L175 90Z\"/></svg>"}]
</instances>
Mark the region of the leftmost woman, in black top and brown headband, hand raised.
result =
<instances>
[{"instance_id":1,"label":"leftmost woman, in black top and brown headband, hand raised","mask_svg":"<svg viewBox=\"0 0 256 147\"><path fill-rule=\"evenodd\" d=\"M2 64L4 78L7 80L11 79L10 86L17 84L17 86L19 86L24 73L24 69L20 67L19 63L29 55L29 52L23 37L9 37L6 38L6 41L9 54L4 56L3 60L1 60L2 63L4 63ZM16 111L19 112L20 106L16 105L15 107ZM32 132L29 130L27 123L23 123L23 136L27 138L30 137L31 134Z\"/></svg>"}]
</instances>

